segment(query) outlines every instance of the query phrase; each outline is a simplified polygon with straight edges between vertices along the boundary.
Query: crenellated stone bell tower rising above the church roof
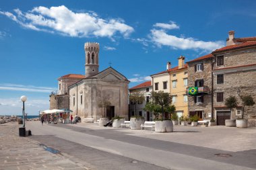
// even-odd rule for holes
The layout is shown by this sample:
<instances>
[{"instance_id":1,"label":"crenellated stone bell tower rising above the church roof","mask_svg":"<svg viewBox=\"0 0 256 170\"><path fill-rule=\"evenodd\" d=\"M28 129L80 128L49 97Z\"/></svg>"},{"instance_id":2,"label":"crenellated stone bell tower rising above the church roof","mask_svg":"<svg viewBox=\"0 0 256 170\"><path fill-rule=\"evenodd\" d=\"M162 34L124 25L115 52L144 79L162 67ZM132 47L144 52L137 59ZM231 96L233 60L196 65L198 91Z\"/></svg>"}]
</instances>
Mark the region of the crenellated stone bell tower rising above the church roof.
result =
<instances>
[{"instance_id":1,"label":"crenellated stone bell tower rising above the church roof","mask_svg":"<svg viewBox=\"0 0 256 170\"><path fill-rule=\"evenodd\" d=\"M100 44L97 42L86 42L84 44L86 51L86 77L96 75L98 73L98 52Z\"/></svg>"}]
</instances>

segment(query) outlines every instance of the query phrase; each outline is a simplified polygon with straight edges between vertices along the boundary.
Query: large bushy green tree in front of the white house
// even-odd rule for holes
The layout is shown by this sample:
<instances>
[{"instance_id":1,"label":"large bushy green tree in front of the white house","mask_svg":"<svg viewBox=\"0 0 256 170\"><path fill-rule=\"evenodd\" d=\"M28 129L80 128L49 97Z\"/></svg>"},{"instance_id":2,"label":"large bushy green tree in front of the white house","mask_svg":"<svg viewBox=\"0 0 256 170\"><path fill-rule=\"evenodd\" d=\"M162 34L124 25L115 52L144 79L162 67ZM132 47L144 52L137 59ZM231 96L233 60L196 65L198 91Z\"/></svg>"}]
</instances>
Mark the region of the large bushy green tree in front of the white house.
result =
<instances>
[{"instance_id":1,"label":"large bushy green tree in front of the white house","mask_svg":"<svg viewBox=\"0 0 256 170\"><path fill-rule=\"evenodd\" d=\"M174 105L171 105L172 95L170 95L170 93L164 93L164 91L152 91L151 98L152 103L154 103L154 105L158 105L158 108L161 108L163 120L165 120L165 112L168 112L168 114L175 112Z\"/></svg>"}]
</instances>

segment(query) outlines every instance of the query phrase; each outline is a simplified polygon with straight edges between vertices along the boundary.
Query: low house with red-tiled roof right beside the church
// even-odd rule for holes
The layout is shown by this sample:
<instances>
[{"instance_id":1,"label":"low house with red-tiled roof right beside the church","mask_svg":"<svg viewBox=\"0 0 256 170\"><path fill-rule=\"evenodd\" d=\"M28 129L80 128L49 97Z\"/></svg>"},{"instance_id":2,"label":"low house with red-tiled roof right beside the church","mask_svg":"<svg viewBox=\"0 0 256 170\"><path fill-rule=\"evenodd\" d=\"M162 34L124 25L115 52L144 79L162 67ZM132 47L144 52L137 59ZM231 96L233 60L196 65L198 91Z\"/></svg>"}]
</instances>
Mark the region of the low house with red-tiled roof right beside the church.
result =
<instances>
[{"instance_id":1,"label":"low house with red-tiled roof right beside the church","mask_svg":"<svg viewBox=\"0 0 256 170\"><path fill-rule=\"evenodd\" d=\"M143 116L146 121L152 121L154 118L154 115L150 112L146 112L143 110L145 108L146 103L150 101L150 95L152 92L152 84L151 81L143 82L139 85L136 85L135 87L131 87L129 89L129 93L139 92L143 93L145 96L145 101L142 103L129 103L129 116L139 115ZM136 112L136 113L135 113Z\"/></svg>"}]
</instances>

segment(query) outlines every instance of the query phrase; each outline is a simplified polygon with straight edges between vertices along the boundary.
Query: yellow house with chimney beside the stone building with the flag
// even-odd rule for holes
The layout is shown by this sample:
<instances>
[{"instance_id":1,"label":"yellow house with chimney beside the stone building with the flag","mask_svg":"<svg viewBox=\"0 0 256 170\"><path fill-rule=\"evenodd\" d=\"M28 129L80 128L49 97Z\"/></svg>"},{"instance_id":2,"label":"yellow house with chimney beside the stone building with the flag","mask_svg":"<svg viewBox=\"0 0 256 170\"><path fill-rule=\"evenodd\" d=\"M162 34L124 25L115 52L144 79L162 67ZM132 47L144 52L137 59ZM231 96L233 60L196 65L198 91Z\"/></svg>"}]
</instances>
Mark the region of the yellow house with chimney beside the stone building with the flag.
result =
<instances>
[{"instance_id":1,"label":"yellow house with chimney beside the stone building with the flag","mask_svg":"<svg viewBox=\"0 0 256 170\"><path fill-rule=\"evenodd\" d=\"M170 69L170 94L172 95L172 104L176 107L178 116L188 116L188 100L187 100L187 64L185 65L185 57L178 58L179 66Z\"/></svg>"}]
</instances>

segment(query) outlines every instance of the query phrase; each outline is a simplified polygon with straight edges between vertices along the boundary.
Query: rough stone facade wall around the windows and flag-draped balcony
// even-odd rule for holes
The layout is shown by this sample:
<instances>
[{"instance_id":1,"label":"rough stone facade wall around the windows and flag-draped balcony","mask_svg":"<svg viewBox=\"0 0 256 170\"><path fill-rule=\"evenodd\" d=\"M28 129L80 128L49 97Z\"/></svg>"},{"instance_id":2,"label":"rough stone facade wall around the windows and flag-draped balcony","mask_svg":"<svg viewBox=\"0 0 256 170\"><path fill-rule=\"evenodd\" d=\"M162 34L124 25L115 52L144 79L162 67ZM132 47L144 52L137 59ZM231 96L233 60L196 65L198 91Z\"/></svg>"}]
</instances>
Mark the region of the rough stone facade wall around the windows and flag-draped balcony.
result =
<instances>
[{"instance_id":1,"label":"rough stone facade wall around the windows and flag-draped balcony","mask_svg":"<svg viewBox=\"0 0 256 170\"><path fill-rule=\"evenodd\" d=\"M195 72L195 65L203 62L203 71ZM196 62L189 62L188 68L188 87L195 86L195 80L203 79L203 86L209 88L209 92L212 91L212 59L199 60ZM194 102L194 96L188 97L189 112L196 110L203 110L203 117L207 118L208 113L212 113L212 95L203 95L203 103L196 105Z\"/></svg>"}]
</instances>

